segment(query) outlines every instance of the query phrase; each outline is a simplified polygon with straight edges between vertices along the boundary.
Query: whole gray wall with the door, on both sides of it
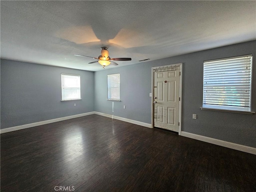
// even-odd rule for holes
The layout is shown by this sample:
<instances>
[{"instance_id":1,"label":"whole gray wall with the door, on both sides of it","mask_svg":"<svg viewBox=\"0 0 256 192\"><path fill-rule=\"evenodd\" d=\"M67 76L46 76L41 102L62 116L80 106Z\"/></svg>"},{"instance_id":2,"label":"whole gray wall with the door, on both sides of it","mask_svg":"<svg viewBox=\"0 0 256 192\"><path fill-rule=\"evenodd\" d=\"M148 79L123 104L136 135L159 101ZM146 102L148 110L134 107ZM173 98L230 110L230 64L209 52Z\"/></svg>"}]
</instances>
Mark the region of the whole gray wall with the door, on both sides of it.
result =
<instances>
[{"instance_id":1,"label":"whole gray wall with the door, on both sides of it","mask_svg":"<svg viewBox=\"0 0 256 192\"><path fill-rule=\"evenodd\" d=\"M256 147L256 114L200 110L202 107L203 62L218 58L254 54L252 108L256 109L256 41L184 54L141 64L95 72L95 111L151 123L151 68L183 63L182 131ZM106 100L107 74L120 73L121 102ZM126 105L126 109L123 106ZM192 119L197 114L198 119Z\"/></svg>"}]
</instances>

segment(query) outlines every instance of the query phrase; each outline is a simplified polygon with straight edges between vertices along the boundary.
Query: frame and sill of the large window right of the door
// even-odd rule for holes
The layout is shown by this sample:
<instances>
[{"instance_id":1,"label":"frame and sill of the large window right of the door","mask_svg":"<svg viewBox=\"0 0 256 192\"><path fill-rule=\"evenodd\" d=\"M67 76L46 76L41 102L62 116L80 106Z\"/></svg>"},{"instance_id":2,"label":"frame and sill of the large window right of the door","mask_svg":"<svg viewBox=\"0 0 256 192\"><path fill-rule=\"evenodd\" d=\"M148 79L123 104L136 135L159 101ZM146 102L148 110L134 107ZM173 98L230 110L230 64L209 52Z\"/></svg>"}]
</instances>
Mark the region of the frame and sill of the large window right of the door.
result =
<instances>
[{"instance_id":1,"label":"frame and sill of the large window right of the door","mask_svg":"<svg viewBox=\"0 0 256 192\"><path fill-rule=\"evenodd\" d=\"M235 59L242 59L242 58L251 58L250 62L250 94L249 94L249 106L225 106L225 105L214 105L214 104L206 104L204 103L204 89L205 89L205 64L210 62L221 62L221 61L228 61L228 60L235 60ZM224 62L222 63L222 65ZM255 112L252 112L252 76L253 76L253 54L248 55L242 55L242 56L235 56L235 57L229 57L229 58L221 58L216 60L206 60L203 64L203 98L202 98L202 107L201 110L217 110L217 111L226 111L226 112L235 112L235 113L246 113L246 114L254 114ZM216 74L217 76L220 75L223 78L227 78L225 74ZM236 88L236 87L235 87ZM214 95L216 96L216 95ZM241 97L242 98L242 97Z\"/></svg>"}]
</instances>

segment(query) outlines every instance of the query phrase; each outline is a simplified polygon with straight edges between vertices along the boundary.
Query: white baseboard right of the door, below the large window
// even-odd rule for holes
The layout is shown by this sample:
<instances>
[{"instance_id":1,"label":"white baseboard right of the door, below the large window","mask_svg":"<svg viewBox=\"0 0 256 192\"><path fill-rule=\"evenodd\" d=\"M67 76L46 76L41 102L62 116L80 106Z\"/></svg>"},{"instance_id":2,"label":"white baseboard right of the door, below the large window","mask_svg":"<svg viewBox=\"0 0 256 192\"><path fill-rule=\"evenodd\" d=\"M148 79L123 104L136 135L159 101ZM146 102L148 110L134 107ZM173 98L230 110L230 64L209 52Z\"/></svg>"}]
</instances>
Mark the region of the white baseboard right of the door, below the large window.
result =
<instances>
[{"instance_id":1,"label":"white baseboard right of the door, below the large window","mask_svg":"<svg viewBox=\"0 0 256 192\"><path fill-rule=\"evenodd\" d=\"M218 140L218 139L214 139L214 138L210 138L210 137L206 137L206 136L202 136L202 135L197 135L197 134L193 134L193 133L189 133L189 132L184 132L184 131L181 132L181 136L256 155L256 148L253 148L253 147L240 145L240 144L236 144L236 143L232 143L232 142L227 142L227 141L223 141L223 140Z\"/></svg>"}]
</instances>

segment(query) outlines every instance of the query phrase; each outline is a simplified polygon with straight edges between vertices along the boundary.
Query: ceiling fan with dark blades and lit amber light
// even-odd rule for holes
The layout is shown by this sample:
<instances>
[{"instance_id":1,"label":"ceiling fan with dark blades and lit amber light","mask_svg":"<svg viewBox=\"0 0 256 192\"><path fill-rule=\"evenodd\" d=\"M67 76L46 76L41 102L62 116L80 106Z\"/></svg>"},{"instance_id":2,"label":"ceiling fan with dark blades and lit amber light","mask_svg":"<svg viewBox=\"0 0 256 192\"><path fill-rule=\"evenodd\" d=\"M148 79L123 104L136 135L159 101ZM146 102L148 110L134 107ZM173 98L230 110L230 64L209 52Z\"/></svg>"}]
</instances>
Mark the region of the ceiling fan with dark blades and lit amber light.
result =
<instances>
[{"instance_id":1,"label":"ceiling fan with dark blades and lit amber light","mask_svg":"<svg viewBox=\"0 0 256 192\"><path fill-rule=\"evenodd\" d=\"M99 64L101 64L103 66L103 68L105 68L109 64L118 65L114 61L130 61L130 60L132 60L132 58L110 58L109 55L108 55L108 48L106 48L106 47L101 48L101 55L98 56L98 58L97 57L91 57L91 56L85 56L85 55L78 55L78 54L74 54L74 55L75 56L90 57L90 58L98 59L98 61L93 61L93 62L90 62L90 63L98 62Z\"/></svg>"}]
</instances>

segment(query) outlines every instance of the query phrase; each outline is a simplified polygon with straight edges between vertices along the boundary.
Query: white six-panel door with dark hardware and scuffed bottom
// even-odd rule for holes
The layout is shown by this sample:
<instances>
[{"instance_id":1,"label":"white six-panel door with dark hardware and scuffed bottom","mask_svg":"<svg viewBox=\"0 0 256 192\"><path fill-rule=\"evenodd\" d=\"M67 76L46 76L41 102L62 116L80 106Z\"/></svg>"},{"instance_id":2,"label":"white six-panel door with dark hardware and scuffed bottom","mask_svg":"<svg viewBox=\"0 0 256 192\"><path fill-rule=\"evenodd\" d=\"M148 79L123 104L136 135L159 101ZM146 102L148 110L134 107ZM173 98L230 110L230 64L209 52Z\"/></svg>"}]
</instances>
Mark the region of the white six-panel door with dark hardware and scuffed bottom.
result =
<instances>
[{"instance_id":1,"label":"white six-panel door with dark hardware and scuffed bottom","mask_svg":"<svg viewBox=\"0 0 256 192\"><path fill-rule=\"evenodd\" d=\"M154 127L179 131L180 66L154 72Z\"/></svg>"}]
</instances>

